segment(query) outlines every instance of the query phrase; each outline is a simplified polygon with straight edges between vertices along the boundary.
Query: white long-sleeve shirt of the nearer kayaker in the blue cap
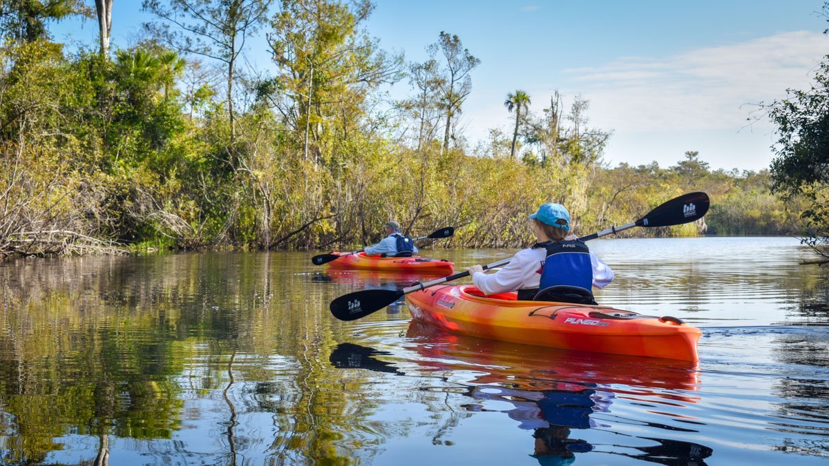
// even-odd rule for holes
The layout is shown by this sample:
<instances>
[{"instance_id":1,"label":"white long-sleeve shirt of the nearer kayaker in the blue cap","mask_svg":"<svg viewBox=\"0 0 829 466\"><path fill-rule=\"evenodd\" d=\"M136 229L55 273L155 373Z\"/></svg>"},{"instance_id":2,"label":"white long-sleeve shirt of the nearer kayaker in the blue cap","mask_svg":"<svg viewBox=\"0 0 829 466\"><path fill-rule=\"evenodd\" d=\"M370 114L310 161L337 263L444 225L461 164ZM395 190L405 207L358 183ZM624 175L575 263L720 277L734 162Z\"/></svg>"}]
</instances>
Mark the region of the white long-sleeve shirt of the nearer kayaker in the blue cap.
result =
<instances>
[{"instance_id":1,"label":"white long-sleeve shirt of the nearer kayaker in the blue cap","mask_svg":"<svg viewBox=\"0 0 829 466\"><path fill-rule=\"evenodd\" d=\"M520 250L512 256L510 263L494 274L478 272L472 281L484 294L505 293L517 289L536 289L541 283L541 266L547 258L544 248ZM613 281L613 270L601 259L590 253L593 265L593 286L604 288Z\"/></svg>"}]
</instances>

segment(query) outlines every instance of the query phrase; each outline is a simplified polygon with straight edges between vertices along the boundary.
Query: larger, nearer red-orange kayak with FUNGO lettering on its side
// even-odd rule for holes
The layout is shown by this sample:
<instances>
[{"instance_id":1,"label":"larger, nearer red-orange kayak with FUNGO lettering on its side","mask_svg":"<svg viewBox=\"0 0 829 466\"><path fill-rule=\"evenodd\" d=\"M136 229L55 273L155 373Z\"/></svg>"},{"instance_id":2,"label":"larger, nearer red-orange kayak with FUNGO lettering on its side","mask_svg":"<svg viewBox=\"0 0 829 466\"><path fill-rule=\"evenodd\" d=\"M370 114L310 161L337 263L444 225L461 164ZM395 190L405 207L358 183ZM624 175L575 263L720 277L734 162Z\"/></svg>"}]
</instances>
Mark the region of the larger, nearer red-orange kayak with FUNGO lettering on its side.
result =
<instances>
[{"instance_id":1,"label":"larger, nearer red-orange kayak with FUNGO lettering on its side","mask_svg":"<svg viewBox=\"0 0 829 466\"><path fill-rule=\"evenodd\" d=\"M643 316L606 306L518 301L470 285L406 295L412 318L450 332L502 342L696 362L699 328L677 318Z\"/></svg>"}]
</instances>

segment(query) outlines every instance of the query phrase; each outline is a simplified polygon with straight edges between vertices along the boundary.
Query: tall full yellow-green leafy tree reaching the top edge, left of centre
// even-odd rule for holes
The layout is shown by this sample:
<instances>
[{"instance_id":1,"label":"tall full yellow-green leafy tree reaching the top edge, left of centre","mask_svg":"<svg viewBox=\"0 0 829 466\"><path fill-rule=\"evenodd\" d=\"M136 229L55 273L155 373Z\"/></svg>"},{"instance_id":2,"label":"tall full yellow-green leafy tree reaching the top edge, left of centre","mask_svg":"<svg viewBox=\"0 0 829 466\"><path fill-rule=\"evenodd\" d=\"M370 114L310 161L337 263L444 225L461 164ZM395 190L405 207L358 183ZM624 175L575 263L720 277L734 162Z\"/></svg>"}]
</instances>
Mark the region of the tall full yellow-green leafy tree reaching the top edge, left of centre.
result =
<instances>
[{"instance_id":1,"label":"tall full yellow-green leafy tree reaching the top edge, left of centre","mask_svg":"<svg viewBox=\"0 0 829 466\"><path fill-rule=\"evenodd\" d=\"M369 92L402 77L402 57L387 56L359 28L372 9L367 1L285 0L271 21L268 42L279 71L259 93L302 134L305 158L313 142L319 162L321 133L353 133Z\"/></svg>"}]
</instances>

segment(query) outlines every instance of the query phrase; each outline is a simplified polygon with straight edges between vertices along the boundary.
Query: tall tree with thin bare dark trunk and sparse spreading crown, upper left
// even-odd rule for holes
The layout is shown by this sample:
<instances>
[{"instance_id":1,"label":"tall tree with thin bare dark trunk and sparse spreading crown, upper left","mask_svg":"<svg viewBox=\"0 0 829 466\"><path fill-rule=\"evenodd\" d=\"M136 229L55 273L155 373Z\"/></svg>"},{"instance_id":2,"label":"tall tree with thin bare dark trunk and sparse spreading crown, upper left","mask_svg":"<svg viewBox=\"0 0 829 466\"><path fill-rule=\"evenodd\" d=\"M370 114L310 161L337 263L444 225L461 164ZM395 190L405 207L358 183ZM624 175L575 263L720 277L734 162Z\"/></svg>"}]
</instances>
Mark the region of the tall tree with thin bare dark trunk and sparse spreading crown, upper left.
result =
<instances>
[{"instance_id":1,"label":"tall tree with thin bare dark trunk and sparse spreading crown, upper left","mask_svg":"<svg viewBox=\"0 0 829 466\"><path fill-rule=\"evenodd\" d=\"M245 40L262 21L271 0L144 0L143 8L165 21L144 27L181 51L207 56L225 65L230 158L235 167L233 85L236 61ZM172 27L171 27L172 25Z\"/></svg>"}]
</instances>

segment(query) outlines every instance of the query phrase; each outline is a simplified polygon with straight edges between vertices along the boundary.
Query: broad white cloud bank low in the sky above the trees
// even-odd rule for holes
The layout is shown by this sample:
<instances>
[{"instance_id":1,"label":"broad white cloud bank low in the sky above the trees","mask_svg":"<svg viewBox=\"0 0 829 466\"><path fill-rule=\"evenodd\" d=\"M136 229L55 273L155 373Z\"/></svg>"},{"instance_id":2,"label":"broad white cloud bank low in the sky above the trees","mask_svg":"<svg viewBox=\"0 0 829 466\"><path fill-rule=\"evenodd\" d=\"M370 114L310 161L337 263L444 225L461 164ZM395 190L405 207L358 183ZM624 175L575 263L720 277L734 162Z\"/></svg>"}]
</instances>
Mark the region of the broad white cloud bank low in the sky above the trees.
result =
<instances>
[{"instance_id":1,"label":"broad white cloud bank low in the sky above the trees","mask_svg":"<svg viewBox=\"0 0 829 466\"><path fill-rule=\"evenodd\" d=\"M565 110L575 95L589 100L589 125L613 130L604 156L613 165L655 160L667 167L685 151L699 150L714 168L758 170L773 158L775 138L768 120L748 126L754 104L807 89L827 52L827 36L786 32L662 58L620 56L604 66L565 70L570 79L555 86L542 75L543 82L524 87L536 113L556 88ZM485 139L496 127L511 133L514 115L492 97L506 92L490 84L473 94L462 116L468 137Z\"/></svg>"}]
</instances>

